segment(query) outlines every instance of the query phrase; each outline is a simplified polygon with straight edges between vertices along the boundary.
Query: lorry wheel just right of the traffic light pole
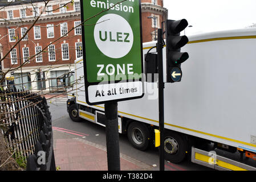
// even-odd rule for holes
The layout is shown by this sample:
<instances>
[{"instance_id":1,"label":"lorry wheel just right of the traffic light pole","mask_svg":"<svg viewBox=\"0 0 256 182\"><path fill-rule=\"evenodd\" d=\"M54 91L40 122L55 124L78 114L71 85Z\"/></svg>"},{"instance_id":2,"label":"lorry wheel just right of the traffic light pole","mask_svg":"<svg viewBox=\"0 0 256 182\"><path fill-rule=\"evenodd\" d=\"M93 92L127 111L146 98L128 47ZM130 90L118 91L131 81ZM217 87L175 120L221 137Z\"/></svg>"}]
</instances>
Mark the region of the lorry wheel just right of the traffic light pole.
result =
<instances>
[{"instance_id":1,"label":"lorry wheel just right of the traffic light pole","mask_svg":"<svg viewBox=\"0 0 256 182\"><path fill-rule=\"evenodd\" d=\"M164 134L164 158L172 163L180 163L185 159L188 142L182 135L174 131Z\"/></svg>"}]
</instances>

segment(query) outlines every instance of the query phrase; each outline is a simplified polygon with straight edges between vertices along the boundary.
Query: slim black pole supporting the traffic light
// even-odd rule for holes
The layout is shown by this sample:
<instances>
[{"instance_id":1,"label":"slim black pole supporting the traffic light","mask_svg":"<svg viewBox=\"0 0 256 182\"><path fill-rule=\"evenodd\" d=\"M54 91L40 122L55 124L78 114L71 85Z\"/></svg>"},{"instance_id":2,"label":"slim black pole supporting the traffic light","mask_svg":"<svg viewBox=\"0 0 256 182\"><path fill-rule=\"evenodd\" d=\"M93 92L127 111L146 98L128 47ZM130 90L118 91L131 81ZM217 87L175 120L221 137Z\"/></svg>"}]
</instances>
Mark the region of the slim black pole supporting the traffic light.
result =
<instances>
[{"instance_id":1,"label":"slim black pole supporting the traffic light","mask_svg":"<svg viewBox=\"0 0 256 182\"><path fill-rule=\"evenodd\" d=\"M160 150L159 162L160 171L164 171L164 73L162 67L162 29L157 34L157 62L159 68L159 131L160 131Z\"/></svg>"}]
</instances>

